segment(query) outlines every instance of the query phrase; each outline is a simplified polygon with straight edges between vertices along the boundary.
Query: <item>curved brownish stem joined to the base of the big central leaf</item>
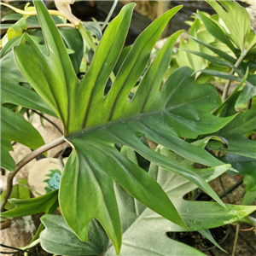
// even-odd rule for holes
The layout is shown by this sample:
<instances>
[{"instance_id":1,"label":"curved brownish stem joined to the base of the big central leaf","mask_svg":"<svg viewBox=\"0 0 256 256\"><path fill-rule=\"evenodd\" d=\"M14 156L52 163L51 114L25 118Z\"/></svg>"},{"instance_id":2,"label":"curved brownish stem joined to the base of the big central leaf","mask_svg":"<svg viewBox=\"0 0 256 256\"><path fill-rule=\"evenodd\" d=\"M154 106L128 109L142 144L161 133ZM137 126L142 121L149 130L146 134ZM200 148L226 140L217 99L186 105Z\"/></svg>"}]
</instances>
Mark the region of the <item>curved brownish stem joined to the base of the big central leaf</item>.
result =
<instances>
[{"instance_id":1,"label":"curved brownish stem joined to the base of the big central leaf","mask_svg":"<svg viewBox=\"0 0 256 256\"><path fill-rule=\"evenodd\" d=\"M13 189L13 179L17 172L20 171L20 169L23 166L26 166L27 163L29 163L31 160L35 159L38 155L43 154L44 152L48 151L51 148L55 148L56 146L61 145L62 143L65 143L65 138L64 137L59 137L55 139L54 141L45 144L44 146L34 150L31 154L27 154L25 158L20 160L20 162L16 165L15 171L10 172L9 176L7 178L7 189L5 190L5 194L3 195L3 200L1 201L0 205L0 212L3 212L4 206L7 203L9 199L9 195L12 192Z\"/></svg>"}]
</instances>

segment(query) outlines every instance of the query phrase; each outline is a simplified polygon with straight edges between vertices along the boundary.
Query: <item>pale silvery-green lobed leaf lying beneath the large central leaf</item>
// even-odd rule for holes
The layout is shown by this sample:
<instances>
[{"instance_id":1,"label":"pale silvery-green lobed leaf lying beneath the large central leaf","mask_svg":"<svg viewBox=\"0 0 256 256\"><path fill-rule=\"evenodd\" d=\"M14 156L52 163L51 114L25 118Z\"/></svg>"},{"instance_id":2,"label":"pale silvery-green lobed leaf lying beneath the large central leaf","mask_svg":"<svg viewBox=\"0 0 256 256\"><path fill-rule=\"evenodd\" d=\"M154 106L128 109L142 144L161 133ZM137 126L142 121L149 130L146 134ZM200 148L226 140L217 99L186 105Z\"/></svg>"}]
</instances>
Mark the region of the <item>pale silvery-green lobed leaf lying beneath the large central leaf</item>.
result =
<instances>
[{"instance_id":1,"label":"pale silvery-green lobed leaf lying beneath the large central leaf","mask_svg":"<svg viewBox=\"0 0 256 256\"><path fill-rule=\"evenodd\" d=\"M158 150L163 154L172 156L166 148ZM180 164L183 165L183 161ZM194 172L210 181L228 168L228 165L224 165L194 170ZM229 224L255 210L255 207L231 205L227 205L228 210L224 210L223 207L214 202L184 201L183 195L195 189L195 184L189 183L187 179L172 172L166 172L166 170L155 165L150 167L149 173L160 183L167 195L172 198L172 201L176 202L183 218L189 223L189 230L203 230ZM116 187L116 195L123 228L123 245L120 255L204 255L194 248L173 241L166 236L166 232L185 230L160 217L155 212L146 209L120 186ZM108 243L104 230L96 222L90 224L89 241L81 242L74 235L73 230L67 227L63 218L46 215L42 218L42 221L46 229L41 234L40 241L42 247L50 253L116 255L113 246ZM65 234L65 236L62 236L62 234ZM99 237L102 239L99 239Z\"/></svg>"}]
</instances>

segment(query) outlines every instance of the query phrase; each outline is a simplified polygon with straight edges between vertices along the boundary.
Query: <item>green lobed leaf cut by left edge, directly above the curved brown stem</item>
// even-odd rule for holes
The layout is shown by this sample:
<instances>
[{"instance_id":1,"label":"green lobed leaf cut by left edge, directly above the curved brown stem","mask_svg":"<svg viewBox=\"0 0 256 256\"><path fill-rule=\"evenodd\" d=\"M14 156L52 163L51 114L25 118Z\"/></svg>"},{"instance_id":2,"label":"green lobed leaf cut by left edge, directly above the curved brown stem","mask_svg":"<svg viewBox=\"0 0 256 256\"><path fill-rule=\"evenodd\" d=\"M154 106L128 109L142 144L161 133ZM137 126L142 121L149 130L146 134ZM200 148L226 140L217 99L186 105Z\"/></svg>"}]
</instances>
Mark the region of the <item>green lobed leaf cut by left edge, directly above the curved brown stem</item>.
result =
<instances>
[{"instance_id":1,"label":"green lobed leaf cut by left edge, directly above the curved brown stem","mask_svg":"<svg viewBox=\"0 0 256 256\"><path fill-rule=\"evenodd\" d=\"M44 140L39 132L19 114L2 106L0 106L0 113L0 166L12 172L15 171L15 160L9 155L9 151L12 150L11 142L15 141L36 149L44 145Z\"/></svg>"}]
</instances>

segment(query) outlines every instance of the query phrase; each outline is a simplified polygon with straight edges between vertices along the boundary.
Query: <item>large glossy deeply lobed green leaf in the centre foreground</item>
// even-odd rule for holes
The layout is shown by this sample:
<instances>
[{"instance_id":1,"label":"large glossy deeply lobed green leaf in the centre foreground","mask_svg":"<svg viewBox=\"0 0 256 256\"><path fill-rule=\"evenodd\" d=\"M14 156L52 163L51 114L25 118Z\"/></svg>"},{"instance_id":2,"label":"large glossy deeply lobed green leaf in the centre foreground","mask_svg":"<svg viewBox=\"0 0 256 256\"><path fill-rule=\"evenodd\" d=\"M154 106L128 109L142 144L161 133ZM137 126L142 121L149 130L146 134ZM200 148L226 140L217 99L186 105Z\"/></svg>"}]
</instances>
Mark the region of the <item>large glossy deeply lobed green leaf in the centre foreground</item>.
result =
<instances>
[{"instance_id":1,"label":"large glossy deeply lobed green leaf in the centre foreground","mask_svg":"<svg viewBox=\"0 0 256 256\"><path fill-rule=\"evenodd\" d=\"M196 138L218 131L233 118L220 119L211 114L221 103L217 91L209 84L195 84L192 71L187 67L172 73L162 87L172 47L180 32L167 40L144 75L134 98L127 100L147 66L160 33L181 7L161 15L137 38L108 95L104 96L105 84L125 43L134 5L126 5L109 24L80 84L47 9L41 1L35 1L35 6L48 55L44 55L25 34L20 45L15 47L15 59L28 82L61 119L66 138L73 144L73 153L61 178L60 205L67 224L76 235L86 241L88 225L97 218L119 252L121 224L115 183L147 207L185 227L160 185L120 154L115 147L117 143L127 145L157 165L188 178L224 206L195 172L154 152L141 141L145 136L189 160L208 166L221 164L202 148L179 138ZM31 58L27 59L25 53Z\"/></svg>"}]
</instances>

